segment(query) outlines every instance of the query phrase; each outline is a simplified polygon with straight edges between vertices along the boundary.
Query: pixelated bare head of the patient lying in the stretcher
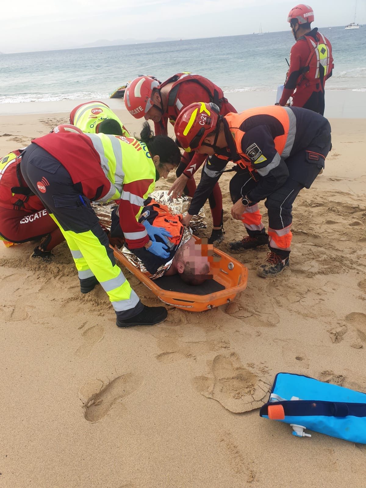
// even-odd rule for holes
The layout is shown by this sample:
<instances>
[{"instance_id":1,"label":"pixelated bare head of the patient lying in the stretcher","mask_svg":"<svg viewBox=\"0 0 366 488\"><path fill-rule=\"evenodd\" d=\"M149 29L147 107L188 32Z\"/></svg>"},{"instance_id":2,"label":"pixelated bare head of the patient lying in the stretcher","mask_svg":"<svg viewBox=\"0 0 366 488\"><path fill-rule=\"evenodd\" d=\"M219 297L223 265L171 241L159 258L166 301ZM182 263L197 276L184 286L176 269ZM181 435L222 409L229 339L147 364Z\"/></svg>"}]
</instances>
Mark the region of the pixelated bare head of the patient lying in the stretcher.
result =
<instances>
[{"instance_id":1,"label":"pixelated bare head of the patient lying in the stretcher","mask_svg":"<svg viewBox=\"0 0 366 488\"><path fill-rule=\"evenodd\" d=\"M202 285L212 278L208 257L202 254L201 244L196 244L195 239L191 237L178 249L174 257L178 273L188 285Z\"/></svg>"}]
</instances>

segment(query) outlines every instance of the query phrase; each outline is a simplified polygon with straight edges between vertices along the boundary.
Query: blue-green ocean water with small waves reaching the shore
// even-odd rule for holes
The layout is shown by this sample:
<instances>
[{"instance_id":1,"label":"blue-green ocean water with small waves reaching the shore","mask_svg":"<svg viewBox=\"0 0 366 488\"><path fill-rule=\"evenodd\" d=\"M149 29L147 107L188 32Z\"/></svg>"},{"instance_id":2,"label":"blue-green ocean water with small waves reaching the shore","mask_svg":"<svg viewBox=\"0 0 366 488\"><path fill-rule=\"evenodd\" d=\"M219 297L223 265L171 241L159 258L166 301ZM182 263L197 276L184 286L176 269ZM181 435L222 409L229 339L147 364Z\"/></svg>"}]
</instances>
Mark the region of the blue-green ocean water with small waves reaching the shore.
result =
<instances>
[{"instance_id":1,"label":"blue-green ocean water with small waves reaching the shore","mask_svg":"<svg viewBox=\"0 0 366 488\"><path fill-rule=\"evenodd\" d=\"M366 26L321 28L333 47L328 90L366 91ZM161 81L199 73L224 91L275 90L284 82L291 31L188 41L0 55L0 103L107 98L140 74Z\"/></svg>"}]
</instances>

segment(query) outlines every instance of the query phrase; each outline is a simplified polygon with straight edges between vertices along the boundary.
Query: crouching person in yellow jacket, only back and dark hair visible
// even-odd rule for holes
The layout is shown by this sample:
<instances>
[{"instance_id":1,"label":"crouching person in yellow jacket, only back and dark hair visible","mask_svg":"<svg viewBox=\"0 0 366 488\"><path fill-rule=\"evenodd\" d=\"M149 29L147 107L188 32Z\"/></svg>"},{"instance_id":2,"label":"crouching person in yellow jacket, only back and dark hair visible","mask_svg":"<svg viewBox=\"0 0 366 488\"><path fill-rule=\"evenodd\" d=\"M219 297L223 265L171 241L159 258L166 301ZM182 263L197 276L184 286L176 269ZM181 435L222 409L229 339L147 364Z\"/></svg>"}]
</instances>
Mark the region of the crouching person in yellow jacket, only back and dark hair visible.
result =
<instances>
[{"instance_id":1,"label":"crouching person in yellow jacket, only back and dark hair visible","mask_svg":"<svg viewBox=\"0 0 366 488\"><path fill-rule=\"evenodd\" d=\"M117 115L103 102L85 102L70 113L70 124L86 134L113 134L129 137L127 129Z\"/></svg>"}]
</instances>

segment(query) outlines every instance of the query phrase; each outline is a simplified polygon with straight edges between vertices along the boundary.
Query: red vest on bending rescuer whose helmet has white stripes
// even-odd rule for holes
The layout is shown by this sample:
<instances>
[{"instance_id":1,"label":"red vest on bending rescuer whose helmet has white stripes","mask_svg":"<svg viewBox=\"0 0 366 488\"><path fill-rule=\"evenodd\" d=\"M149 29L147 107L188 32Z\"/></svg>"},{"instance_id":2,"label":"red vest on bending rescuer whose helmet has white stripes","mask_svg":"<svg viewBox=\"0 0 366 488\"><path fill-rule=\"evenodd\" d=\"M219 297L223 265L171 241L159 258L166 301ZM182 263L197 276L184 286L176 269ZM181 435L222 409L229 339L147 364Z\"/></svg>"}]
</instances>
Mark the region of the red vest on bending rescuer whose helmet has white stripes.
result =
<instances>
[{"instance_id":1,"label":"red vest on bending rescuer whose helmet has white stripes","mask_svg":"<svg viewBox=\"0 0 366 488\"><path fill-rule=\"evenodd\" d=\"M200 86L202 86L202 88L208 93L210 101L216 103L216 105L218 105L221 109L222 101L224 99L224 92L221 88L215 85L215 83L207 80L207 78L204 78L204 76L201 75L194 75L190 73L177 73L176 75L171 76L167 80L163 81L163 83L161 83L159 86L159 88L163 88L163 86L166 86L169 83L173 83L168 95L168 109L166 112L170 120L174 121L178 116L178 113L183 108L177 107L176 103L178 98L179 85L181 83L184 83L184 81L195 81Z\"/></svg>"}]
</instances>

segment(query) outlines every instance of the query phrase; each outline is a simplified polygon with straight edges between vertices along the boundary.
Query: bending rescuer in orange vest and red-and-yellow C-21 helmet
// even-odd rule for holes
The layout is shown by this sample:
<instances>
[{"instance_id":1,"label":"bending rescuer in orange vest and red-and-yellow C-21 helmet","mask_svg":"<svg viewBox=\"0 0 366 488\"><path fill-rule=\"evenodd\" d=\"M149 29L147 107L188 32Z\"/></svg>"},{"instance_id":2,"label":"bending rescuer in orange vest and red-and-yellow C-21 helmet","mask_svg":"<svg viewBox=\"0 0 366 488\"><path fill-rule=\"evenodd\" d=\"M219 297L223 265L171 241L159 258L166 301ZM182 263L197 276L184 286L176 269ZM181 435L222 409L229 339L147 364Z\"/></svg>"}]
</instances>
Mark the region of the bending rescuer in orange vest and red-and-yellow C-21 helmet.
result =
<instances>
[{"instance_id":1,"label":"bending rescuer in orange vest and red-and-yellow C-21 helmet","mask_svg":"<svg viewBox=\"0 0 366 488\"><path fill-rule=\"evenodd\" d=\"M182 110L174 129L183 147L212 155L182 223L189 224L224 172L226 163L213 155L228 151L237 163L230 181L231 214L248 234L229 247L242 252L268 244L259 276L283 271L289 264L292 204L324 168L331 147L329 122L299 107L258 107L223 117L213 103L193 103ZM268 209L268 234L259 211L261 200Z\"/></svg>"}]
</instances>

